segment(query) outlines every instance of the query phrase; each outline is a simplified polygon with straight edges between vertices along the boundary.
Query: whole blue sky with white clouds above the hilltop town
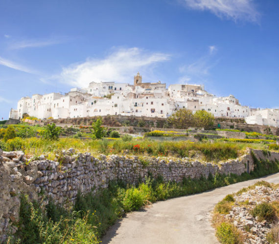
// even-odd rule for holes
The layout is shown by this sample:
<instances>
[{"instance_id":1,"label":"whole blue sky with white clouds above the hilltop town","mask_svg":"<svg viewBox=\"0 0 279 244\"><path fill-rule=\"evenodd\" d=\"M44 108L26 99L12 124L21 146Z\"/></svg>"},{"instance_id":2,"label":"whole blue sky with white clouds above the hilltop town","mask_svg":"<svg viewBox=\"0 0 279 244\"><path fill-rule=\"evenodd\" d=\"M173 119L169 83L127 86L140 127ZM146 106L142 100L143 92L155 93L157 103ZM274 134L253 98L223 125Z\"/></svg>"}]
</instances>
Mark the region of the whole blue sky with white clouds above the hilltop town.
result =
<instances>
[{"instance_id":1,"label":"whole blue sky with white clouds above the hilltop town","mask_svg":"<svg viewBox=\"0 0 279 244\"><path fill-rule=\"evenodd\" d=\"M278 0L0 0L0 119L91 81L204 84L279 107Z\"/></svg>"}]
</instances>

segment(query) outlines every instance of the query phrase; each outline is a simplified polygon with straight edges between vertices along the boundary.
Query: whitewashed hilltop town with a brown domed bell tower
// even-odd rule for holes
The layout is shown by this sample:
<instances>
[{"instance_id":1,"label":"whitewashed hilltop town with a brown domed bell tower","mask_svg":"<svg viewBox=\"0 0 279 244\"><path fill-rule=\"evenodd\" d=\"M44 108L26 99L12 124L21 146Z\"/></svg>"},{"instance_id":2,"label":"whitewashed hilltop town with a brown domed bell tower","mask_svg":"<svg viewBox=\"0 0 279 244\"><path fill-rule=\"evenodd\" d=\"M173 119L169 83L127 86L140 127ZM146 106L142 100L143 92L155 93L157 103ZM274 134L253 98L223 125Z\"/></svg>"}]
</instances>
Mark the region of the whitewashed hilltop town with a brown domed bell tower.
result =
<instances>
[{"instance_id":1,"label":"whitewashed hilltop town with a brown domed bell tower","mask_svg":"<svg viewBox=\"0 0 279 244\"><path fill-rule=\"evenodd\" d=\"M277 109L251 109L242 106L232 95L216 97L209 94L203 85L171 84L166 88L161 81L142 82L139 72L133 85L91 82L87 88L72 88L65 95L49 93L23 97L17 109L11 109L9 118L19 119L23 114L39 119L105 115L167 118L180 108L193 112L205 110L214 117L245 118L250 124L279 125Z\"/></svg>"}]
</instances>

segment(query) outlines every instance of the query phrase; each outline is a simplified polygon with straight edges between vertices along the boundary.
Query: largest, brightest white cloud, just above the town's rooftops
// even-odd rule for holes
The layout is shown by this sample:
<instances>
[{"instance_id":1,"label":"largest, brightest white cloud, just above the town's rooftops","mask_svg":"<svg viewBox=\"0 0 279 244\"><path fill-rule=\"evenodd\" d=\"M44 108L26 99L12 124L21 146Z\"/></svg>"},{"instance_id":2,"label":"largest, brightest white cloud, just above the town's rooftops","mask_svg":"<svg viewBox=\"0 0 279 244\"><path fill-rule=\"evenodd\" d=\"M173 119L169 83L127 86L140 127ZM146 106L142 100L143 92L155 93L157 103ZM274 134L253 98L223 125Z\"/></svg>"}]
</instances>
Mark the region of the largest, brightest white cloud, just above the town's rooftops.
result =
<instances>
[{"instance_id":1,"label":"largest, brightest white cloud, just above the town's rooftops","mask_svg":"<svg viewBox=\"0 0 279 244\"><path fill-rule=\"evenodd\" d=\"M170 55L164 53L150 53L137 47L120 48L104 59L87 59L64 67L58 79L79 87L85 87L91 81L129 82L138 71L147 76L154 65L169 59Z\"/></svg>"}]
</instances>

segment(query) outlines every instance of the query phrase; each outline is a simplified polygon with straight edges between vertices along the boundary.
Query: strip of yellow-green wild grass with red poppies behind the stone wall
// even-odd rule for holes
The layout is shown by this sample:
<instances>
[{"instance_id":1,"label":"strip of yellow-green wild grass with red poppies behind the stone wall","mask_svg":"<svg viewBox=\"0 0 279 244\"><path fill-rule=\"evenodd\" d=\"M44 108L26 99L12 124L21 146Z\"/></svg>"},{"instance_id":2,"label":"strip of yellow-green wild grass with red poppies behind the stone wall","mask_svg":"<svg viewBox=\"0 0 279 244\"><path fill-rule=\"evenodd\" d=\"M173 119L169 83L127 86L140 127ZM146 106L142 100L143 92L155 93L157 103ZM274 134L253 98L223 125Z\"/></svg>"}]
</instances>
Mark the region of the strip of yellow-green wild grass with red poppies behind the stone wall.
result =
<instances>
[{"instance_id":1,"label":"strip of yellow-green wild grass with red poppies behind the stone wall","mask_svg":"<svg viewBox=\"0 0 279 244\"><path fill-rule=\"evenodd\" d=\"M129 141L130 140L130 141ZM178 158L199 158L206 162L219 162L241 156L246 147L267 150L265 144L234 142L157 142L145 139L91 140L79 138L60 138L48 141L41 138L13 138L6 142L0 140L0 147L5 151L23 150L26 154L40 156L57 150L74 148L78 152L91 152L119 155L168 156ZM137 147L135 148L135 145Z\"/></svg>"}]
</instances>

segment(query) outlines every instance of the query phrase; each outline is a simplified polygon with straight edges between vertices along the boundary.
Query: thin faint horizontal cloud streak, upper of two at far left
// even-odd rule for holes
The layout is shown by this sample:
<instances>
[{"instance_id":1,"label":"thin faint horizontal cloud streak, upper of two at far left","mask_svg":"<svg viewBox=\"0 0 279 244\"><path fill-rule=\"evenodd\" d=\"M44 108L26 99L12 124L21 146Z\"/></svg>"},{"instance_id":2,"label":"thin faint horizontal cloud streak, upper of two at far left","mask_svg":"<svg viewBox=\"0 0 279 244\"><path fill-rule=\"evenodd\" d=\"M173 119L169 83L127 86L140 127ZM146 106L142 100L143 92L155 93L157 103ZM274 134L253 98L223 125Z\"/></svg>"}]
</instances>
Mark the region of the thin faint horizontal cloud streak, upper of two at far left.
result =
<instances>
[{"instance_id":1,"label":"thin faint horizontal cloud streak, upper of two at far left","mask_svg":"<svg viewBox=\"0 0 279 244\"><path fill-rule=\"evenodd\" d=\"M69 38L61 37L61 38L50 38L46 40L23 40L23 41L14 41L9 44L10 49L23 49L30 47L44 47L50 45L56 45L60 43L64 43L69 40Z\"/></svg>"}]
</instances>

